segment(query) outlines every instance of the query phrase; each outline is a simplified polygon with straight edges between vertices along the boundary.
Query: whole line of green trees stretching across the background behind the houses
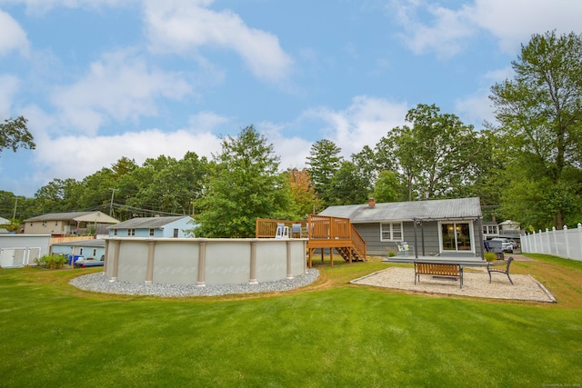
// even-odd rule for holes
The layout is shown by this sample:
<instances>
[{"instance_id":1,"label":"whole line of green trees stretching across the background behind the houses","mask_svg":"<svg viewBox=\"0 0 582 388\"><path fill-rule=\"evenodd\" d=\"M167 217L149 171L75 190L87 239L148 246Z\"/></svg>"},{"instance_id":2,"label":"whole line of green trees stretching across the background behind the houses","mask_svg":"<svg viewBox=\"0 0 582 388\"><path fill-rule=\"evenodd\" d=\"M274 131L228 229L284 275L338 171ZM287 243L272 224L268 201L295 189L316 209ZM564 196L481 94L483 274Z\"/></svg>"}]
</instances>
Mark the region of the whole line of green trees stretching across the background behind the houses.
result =
<instances>
[{"instance_id":1,"label":"whole line of green trees stretching across the background behind the houses","mask_svg":"<svg viewBox=\"0 0 582 388\"><path fill-rule=\"evenodd\" d=\"M248 237L257 217L299 220L330 205L364 204L369 196L376 202L478 196L486 219L534 230L576 225L582 222L582 35L532 35L511 65L514 77L491 87L497 124L480 130L435 104L418 104L405 125L386 129L357 154L344 158L322 139L305 168L280 171L273 145L249 125L223 138L210 160L188 152L138 165L123 157L81 181L55 179L34 198L18 197L16 218L96 209L121 220L193 214L199 235ZM0 191L0 214L12 217L15 201Z\"/></svg>"}]
</instances>

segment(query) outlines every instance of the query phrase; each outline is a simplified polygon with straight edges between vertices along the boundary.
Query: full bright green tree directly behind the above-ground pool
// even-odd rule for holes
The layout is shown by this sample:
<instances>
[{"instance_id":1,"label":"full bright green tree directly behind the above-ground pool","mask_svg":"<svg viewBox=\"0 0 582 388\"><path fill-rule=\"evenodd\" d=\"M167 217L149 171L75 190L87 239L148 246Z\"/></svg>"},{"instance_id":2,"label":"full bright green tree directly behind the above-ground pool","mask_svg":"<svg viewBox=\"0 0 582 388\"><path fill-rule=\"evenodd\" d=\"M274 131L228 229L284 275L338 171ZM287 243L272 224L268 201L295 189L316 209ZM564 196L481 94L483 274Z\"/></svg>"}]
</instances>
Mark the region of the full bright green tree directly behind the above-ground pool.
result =
<instances>
[{"instance_id":1,"label":"full bright green tree directly behind the above-ground pool","mask_svg":"<svg viewBox=\"0 0 582 388\"><path fill-rule=\"evenodd\" d=\"M278 157L253 125L237 137L226 136L214 162L206 193L196 201L196 235L253 237L256 218L286 213L290 192L277 174Z\"/></svg>"}]
</instances>

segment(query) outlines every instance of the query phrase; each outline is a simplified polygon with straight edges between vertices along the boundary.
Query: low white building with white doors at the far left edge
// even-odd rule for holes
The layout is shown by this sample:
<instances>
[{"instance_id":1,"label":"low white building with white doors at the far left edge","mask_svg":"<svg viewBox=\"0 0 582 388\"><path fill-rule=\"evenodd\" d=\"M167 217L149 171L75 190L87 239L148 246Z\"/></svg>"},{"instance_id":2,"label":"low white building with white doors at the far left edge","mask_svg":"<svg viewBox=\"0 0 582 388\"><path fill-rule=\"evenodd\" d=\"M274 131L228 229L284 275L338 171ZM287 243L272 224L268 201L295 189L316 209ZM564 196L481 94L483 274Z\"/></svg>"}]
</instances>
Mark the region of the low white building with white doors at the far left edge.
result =
<instances>
[{"instance_id":1,"label":"low white building with white doors at the far left edge","mask_svg":"<svg viewBox=\"0 0 582 388\"><path fill-rule=\"evenodd\" d=\"M50 234L0 234L0 266L35 265L35 259L48 254Z\"/></svg>"}]
</instances>

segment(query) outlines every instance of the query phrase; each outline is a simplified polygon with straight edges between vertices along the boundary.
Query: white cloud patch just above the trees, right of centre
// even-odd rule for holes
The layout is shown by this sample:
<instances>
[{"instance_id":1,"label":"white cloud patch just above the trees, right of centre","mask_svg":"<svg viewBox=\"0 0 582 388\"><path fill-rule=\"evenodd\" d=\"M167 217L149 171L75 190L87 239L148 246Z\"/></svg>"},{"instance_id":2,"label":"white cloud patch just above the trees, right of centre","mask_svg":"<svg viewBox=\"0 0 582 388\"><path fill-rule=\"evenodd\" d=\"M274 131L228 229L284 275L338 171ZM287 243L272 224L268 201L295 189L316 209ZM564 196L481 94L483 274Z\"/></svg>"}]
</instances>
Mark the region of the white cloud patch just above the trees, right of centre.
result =
<instances>
[{"instance_id":1,"label":"white cloud patch just above the trees, right of centre","mask_svg":"<svg viewBox=\"0 0 582 388\"><path fill-rule=\"evenodd\" d=\"M325 121L324 135L348 157L359 153L364 145L373 148L388 131L405 124L408 109L406 103L359 95L343 111L317 108L306 112L305 116Z\"/></svg>"}]
</instances>

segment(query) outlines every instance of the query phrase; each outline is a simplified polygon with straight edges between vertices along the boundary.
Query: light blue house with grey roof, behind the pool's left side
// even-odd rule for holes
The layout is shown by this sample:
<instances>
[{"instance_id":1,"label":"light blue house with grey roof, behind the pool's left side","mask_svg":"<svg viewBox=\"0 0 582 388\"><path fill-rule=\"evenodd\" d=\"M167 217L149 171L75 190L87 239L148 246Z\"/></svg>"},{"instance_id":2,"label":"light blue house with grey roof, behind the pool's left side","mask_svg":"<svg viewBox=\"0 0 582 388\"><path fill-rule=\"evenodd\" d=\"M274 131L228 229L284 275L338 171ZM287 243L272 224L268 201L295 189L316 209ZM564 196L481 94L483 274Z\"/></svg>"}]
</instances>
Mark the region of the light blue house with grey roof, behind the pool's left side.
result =
<instances>
[{"instance_id":1,"label":"light blue house with grey roof, behind the pool's left side","mask_svg":"<svg viewBox=\"0 0 582 388\"><path fill-rule=\"evenodd\" d=\"M194 219L189 215L176 217L140 217L109 226L109 237L192 237L187 231L194 229Z\"/></svg>"}]
</instances>

